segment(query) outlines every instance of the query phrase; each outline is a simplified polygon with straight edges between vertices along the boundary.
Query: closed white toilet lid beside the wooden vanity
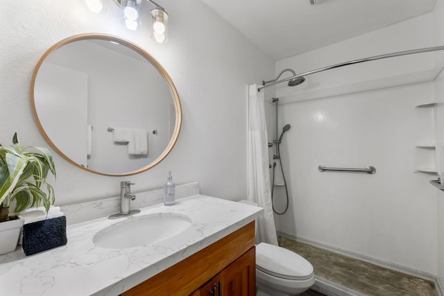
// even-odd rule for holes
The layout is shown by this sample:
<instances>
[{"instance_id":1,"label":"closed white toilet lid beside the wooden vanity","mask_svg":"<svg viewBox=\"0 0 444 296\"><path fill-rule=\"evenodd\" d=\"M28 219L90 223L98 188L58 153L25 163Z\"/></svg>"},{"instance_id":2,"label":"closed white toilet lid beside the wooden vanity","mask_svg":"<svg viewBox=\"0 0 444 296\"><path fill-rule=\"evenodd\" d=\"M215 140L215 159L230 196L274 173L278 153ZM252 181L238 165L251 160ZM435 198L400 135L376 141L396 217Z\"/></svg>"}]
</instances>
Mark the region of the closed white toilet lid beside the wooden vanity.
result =
<instances>
[{"instance_id":1,"label":"closed white toilet lid beside the wooden vanity","mask_svg":"<svg viewBox=\"0 0 444 296\"><path fill-rule=\"evenodd\" d=\"M305 258L268 243L256 245L256 268L282 279L302 280L313 275L313 266Z\"/></svg>"}]
</instances>

